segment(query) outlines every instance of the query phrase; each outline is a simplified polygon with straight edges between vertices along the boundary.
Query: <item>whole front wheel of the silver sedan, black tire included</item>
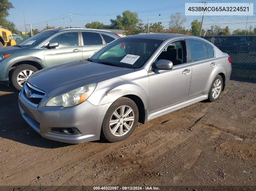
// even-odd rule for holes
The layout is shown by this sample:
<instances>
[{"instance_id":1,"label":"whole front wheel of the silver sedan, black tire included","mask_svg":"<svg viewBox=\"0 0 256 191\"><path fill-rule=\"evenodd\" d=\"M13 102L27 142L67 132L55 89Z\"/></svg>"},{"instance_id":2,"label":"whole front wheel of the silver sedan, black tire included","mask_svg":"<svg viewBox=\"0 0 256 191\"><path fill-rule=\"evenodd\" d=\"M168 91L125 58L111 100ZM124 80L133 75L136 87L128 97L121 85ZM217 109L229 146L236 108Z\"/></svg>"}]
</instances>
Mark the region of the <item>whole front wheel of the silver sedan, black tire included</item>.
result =
<instances>
[{"instance_id":1,"label":"whole front wheel of the silver sedan, black tire included","mask_svg":"<svg viewBox=\"0 0 256 191\"><path fill-rule=\"evenodd\" d=\"M122 115L122 118L118 120L118 118L115 117L116 115L114 115L114 112L116 111L118 116L120 116L121 108L124 108L124 112L123 112L124 114L126 114L126 112L129 112L131 109L132 111L130 111L127 114L127 117L125 119L128 120L129 118L132 119L133 117L134 120L123 121L125 120L123 119L124 115ZM138 123L138 118L139 118L138 107L134 103L134 101L132 101L127 97L118 98L111 104L111 106L108 108L107 113L105 114L105 117L103 119L103 123L101 126L101 137L106 139L109 142L119 142L128 138L136 128ZM110 120L113 121L113 125L111 126L110 126ZM131 127L131 128L128 130L128 127ZM122 131L120 131L121 128L122 128ZM116 129L116 131L114 129ZM112 133L111 130L114 133Z\"/></svg>"}]
</instances>

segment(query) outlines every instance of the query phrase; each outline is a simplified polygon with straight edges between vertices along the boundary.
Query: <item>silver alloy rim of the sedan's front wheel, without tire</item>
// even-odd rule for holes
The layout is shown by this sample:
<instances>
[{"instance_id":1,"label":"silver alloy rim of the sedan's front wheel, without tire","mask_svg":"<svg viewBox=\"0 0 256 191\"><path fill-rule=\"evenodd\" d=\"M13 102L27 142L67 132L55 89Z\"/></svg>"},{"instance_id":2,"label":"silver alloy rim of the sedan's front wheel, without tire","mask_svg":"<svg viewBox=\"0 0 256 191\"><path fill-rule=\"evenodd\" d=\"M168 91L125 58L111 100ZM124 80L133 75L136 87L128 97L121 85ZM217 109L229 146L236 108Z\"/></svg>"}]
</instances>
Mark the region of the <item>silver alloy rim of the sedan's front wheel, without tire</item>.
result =
<instances>
[{"instance_id":1,"label":"silver alloy rim of the sedan's front wheel, without tire","mask_svg":"<svg viewBox=\"0 0 256 191\"><path fill-rule=\"evenodd\" d=\"M124 105L118 107L109 121L109 128L113 135L123 136L130 131L134 123L134 111L131 107Z\"/></svg>"}]
</instances>

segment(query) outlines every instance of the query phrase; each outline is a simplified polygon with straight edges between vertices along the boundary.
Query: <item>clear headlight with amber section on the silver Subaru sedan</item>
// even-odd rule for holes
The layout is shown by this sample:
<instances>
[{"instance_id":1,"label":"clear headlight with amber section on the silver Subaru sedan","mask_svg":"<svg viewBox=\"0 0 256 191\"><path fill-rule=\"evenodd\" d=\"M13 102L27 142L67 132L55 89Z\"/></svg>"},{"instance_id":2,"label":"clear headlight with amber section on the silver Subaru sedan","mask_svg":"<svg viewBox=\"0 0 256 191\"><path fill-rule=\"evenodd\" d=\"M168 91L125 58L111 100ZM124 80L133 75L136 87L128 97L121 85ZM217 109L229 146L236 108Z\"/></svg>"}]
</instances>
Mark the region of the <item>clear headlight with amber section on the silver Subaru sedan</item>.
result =
<instances>
[{"instance_id":1,"label":"clear headlight with amber section on the silver Subaru sedan","mask_svg":"<svg viewBox=\"0 0 256 191\"><path fill-rule=\"evenodd\" d=\"M87 100L88 97L95 90L97 83L89 84L81 88L76 88L65 94L52 97L48 100L45 106L62 106L62 107L72 107L83 101Z\"/></svg>"}]
</instances>

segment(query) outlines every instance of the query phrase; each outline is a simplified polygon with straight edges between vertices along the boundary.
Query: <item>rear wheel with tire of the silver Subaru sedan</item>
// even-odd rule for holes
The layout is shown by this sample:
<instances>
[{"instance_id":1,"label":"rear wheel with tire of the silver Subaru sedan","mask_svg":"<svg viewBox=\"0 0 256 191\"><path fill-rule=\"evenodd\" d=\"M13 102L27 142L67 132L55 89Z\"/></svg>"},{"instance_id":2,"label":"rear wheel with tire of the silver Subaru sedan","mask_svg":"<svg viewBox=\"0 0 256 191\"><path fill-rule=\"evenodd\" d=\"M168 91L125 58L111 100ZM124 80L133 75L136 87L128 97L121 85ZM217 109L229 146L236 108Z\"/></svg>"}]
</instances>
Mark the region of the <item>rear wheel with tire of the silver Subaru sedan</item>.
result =
<instances>
[{"instance_id":1,"label":"rear wheel with tire of the silver Subaru sedan","mask_svg":"<svg viewBox=\"0 0 256 191\"><path fill-rule=\"evenodd\" d=\"M217 89L215 88L216 84L218 85ZM211 84L211 88L208 94L208 101L214 102L218 100L220 98L222 88L223 88L223 80L220 75L217 75Z\"/></svg>"}]
</instances>

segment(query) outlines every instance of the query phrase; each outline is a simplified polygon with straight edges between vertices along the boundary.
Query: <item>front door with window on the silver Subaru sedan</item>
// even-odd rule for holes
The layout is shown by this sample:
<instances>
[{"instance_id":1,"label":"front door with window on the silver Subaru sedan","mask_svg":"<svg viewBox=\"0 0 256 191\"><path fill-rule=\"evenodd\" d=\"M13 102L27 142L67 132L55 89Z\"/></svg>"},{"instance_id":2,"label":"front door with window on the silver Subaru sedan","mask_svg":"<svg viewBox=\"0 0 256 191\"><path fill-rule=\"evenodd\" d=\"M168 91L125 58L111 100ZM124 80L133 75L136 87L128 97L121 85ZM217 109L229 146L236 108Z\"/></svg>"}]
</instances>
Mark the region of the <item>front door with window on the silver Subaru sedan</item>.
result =
<instances>
[{"instance_id":1,"label":"front door with window on the silver Subaru sedan","mask_svg":"<svg viewBox=\"0 0 256 191\"><path fill-rule=\"evenodd\" d=\"M181 40L169 44L156 59L170 60L174 66L171 70L148 72L150 113L188 99L192 67L186 58L185 41Z\"/></svg>"}]
</instances>

